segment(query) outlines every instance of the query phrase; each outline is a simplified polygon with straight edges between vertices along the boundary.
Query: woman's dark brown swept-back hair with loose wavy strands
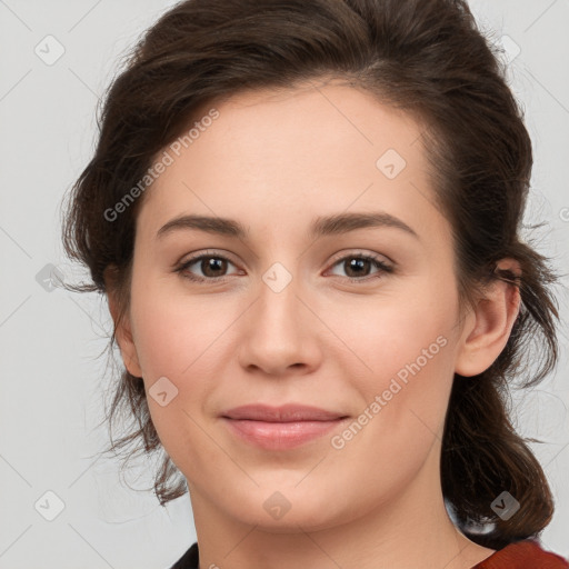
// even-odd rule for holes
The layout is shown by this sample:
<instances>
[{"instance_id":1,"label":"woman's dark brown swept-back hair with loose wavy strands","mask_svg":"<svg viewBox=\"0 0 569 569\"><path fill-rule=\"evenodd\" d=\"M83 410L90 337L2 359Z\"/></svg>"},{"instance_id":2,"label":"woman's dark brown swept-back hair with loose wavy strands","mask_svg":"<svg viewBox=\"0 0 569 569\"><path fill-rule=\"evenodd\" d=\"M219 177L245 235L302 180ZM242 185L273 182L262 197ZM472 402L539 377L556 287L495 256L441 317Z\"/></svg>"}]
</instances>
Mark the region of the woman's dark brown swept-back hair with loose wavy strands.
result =
<instances>
[{"instance_id":1,"label":"woman's dark brown swept-back hair with loose wavy strands","mask_svg":"<svg viewBox=\"0 0 569 569\"><path fill-rule=\"evenodd\" d=\"M503 74L463 0L181 2L147 31L107 92L97 150L73 187L63 224L68 254L90 269L93 282L71 288L112 288L120 318L126 313L144 196L122 208L118 220L106 212L203 104L247 89L289 89L331 77L411 113L427 126L438 206L453 228L461 306L492 279L521 295L520 313L493 365L473 378L455 376L442 441L443 496L462 531L480 545L498 549L537 536L551 519L552 497L528 441L509 420L506 396L510 382L532 387L557 362L559 317L549 288L557 276L519 237L532 150ZM519 261L521 277L495 271L507 257ZM540 366L530 370L522 355L533 340L542 349L536 352ZM117 417L130 417L134 428L118 441L111 432L111 449L142 442L147 453L163 451L143 382L127 370L108 415L111 426ZM162 505L187 491L178 475L164 456L154 482ZM509 520L491 509L505 490L520 503ZM480 533L480 523L493 527Z\"/></svg>"}]
</instances>

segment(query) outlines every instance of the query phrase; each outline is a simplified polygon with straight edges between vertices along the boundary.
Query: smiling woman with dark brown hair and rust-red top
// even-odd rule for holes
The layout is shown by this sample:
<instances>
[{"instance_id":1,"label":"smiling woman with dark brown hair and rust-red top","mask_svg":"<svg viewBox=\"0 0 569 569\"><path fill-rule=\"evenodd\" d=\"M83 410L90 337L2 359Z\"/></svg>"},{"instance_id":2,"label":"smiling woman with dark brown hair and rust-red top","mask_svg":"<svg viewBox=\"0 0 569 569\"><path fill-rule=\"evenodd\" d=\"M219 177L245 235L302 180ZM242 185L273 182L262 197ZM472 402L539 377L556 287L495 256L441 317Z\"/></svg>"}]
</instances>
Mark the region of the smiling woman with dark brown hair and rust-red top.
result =
<instances>
[{"instance_id":1,"label":"smiling woman with dark brown hair and rust-red top","mask_svg":"<svg viewBox=\"0 0 569 569\"><path fill-rule=\"evenodd\" d=\"M64 242L114 321L116 447L190 492L176 569L569 567L502 400L558 352L531 164L465 1L190 0L148 31Z\"/></svg>"}]
</instances>

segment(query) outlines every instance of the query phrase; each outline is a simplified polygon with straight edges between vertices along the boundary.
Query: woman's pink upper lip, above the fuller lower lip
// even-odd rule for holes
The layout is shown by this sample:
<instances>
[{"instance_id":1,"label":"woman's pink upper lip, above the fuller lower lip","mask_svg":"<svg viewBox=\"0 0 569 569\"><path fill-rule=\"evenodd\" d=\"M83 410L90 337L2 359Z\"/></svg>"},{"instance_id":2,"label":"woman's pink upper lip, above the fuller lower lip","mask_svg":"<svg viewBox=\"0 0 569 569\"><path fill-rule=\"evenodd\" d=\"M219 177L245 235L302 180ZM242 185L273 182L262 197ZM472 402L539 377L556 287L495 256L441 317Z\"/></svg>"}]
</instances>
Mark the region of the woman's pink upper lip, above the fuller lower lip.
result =
<instances>
[{"instance_id":1,"label":"woman's pink upper lip, above the fuller lower lip","mask_svg":"<svg viewBox=\"0 0 569 569\"><path fill-rule=\"evenodd\" d=\"M267 422L296 422L296 421L333 421L343 419L346 415L327 411L318 407L305 405L283 405L271 407L267 405L244 405L234 407L221 413L221 417L228 419L241 419L250 421Z\"/></svg>"}]
</instances>

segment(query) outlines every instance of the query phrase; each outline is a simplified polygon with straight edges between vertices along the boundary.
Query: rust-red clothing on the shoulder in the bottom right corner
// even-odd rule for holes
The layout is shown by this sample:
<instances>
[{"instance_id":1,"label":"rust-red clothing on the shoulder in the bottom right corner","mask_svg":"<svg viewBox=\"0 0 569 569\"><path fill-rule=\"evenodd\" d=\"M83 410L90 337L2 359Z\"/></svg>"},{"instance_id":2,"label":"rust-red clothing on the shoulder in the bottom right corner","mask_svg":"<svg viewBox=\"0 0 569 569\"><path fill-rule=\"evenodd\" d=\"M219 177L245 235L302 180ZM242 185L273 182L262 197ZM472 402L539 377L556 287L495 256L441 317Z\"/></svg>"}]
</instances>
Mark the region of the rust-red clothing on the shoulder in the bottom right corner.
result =
<instances>
[{"instance_id":1,"label":"rust-red clothing on the shoulder in the bottom right corner","mask_svg":"<svg viewBox=\"0 0 569 569\"><path fill-rule=\"evenodd\" d=\"M537 541L526 540L492 553L472 569L569 569L562 557L545 551Z\"/></svg>"}]
</instances>

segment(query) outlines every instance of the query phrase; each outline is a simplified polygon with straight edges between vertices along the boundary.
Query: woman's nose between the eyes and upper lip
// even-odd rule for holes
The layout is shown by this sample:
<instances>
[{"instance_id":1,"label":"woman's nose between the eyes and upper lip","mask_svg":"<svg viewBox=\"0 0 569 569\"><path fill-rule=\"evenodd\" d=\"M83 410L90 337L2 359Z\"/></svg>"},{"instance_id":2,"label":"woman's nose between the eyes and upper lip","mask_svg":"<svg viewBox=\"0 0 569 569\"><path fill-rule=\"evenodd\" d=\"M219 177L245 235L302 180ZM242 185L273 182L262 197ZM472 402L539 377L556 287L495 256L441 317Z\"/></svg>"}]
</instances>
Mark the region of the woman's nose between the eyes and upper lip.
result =
<instances>
[{"instance_id":1,"label":"woman's nose between the eyes and upper lip","mask_svg":"<svg viewBox=\"0 0 569 569\"><path fill-rule=\"evenodd\" d=\"M258 290L241 318L240 365L276 378L313 371L321 360L318 336L325 328L318 307L311 306L295 278L281 290L262 280Z\"/></svg>"}]
</instances>

